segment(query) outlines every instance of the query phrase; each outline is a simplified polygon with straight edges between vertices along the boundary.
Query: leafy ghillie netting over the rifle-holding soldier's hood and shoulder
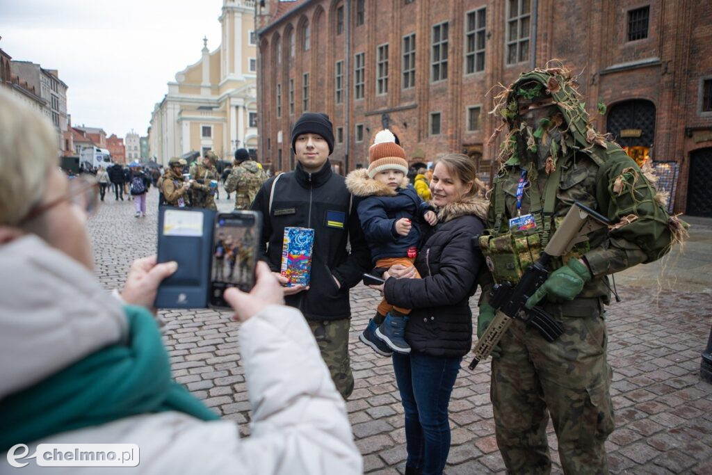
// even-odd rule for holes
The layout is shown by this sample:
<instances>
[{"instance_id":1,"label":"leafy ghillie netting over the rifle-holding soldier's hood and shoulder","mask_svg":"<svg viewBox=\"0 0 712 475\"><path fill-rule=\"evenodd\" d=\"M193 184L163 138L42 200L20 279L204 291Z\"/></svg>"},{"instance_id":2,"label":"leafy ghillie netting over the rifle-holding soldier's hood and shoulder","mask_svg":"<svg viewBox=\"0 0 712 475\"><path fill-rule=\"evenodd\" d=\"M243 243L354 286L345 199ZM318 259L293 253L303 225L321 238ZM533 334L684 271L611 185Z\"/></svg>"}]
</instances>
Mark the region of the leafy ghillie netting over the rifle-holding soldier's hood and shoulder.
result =
<instances>
[{"instance_id":1,"label":"leafy ghillie netting over the rifle-holding soldier's hood and shoulder","mask_svg":"<svg viewBox=\"0 0 712 475\"><path fill-rule=\"evenodd\" d=\"M582 95L577 90L577 76L572 75L570 69L560 61L549 61L545 68L521 74L509 87L499 84L495 88L500 90L494 96L494 108L490 113L501 116L502 124L489 138L488 145L508 127L498 155L500 168L520 164L524 153L538 155L543 160L543 169L547 174L551 174L560 160L573 150L590 155L600 162L625 154L608 135L595 130ZM526 102L536 98L551 100L555 105L555 113L535 124L520 120L518 100ZM598 105L598 109L605 112L602 104ZM538 173L536 168L530 169L532 179ZM654 219L666 225L671 234L671 244L659 254L661 256L673 244L683 244L689 234L688 225L684 221L677 215L668 216L664 211L667 196L665 192L656 189L656 182L657 177L649 162L644 163L641 169L631 161L631 166L620 172L609 187L613 196L622 198L616 200L622 206L617 213L619 221L612 225L611 231L636 227L630 225L637 221L639 208L647 207L644 214L649 216L649 208L654 207Z\"/></svg>"}]
</instances>

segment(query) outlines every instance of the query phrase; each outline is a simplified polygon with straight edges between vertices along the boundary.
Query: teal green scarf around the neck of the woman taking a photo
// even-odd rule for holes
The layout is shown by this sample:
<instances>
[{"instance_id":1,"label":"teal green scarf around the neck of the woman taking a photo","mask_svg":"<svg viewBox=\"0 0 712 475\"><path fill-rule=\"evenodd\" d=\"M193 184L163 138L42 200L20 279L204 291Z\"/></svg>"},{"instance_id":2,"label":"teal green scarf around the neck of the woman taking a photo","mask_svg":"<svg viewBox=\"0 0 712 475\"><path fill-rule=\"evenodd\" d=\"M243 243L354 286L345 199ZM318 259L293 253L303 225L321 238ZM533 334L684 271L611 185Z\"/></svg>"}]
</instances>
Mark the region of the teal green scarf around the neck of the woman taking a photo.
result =
<instances>
[{"instance_id":1,"label":"teal green scarf around the neck of the woman taking a photo","mask_svg":"<svg viewBox=\"0 0 712 475\"><path fill-rule=\"evenodd\" d=\"M125 306L125 312L128 343L98 350L0 402L0 452L137 414L178 411L206 421L219 419L172 380L168 355L148 310Z\"/></svg>"}]
</instances>

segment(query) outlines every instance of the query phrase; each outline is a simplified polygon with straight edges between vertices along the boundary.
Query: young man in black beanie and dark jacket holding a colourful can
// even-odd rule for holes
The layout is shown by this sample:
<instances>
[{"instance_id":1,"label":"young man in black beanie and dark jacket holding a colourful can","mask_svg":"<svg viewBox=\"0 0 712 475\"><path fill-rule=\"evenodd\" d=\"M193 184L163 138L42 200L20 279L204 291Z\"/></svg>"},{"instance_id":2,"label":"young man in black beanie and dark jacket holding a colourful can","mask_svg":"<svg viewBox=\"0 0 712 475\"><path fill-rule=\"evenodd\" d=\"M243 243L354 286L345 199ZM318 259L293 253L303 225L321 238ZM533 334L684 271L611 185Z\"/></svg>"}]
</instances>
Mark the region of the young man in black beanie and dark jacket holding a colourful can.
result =
<instances>
[{"instance_id":1,"label":"young man in black beanie and dark jacket holding a colourful can","mask_svg":"<svg viewBox=\"0 0 712 475\"><path fill-rule=\"evenodd\" d=\"M304 113L295 122L293 172L262 185L251 209L262 212L261 259L283 284L288 306L304 314L337 390L346 399L354 387L348 342L349 289L370 270L371 256L344 177L331 171L334 132L328 115ZM308 286L287 286L279 274L284 228L314 230Z\"/></svg>"}]
</instances>

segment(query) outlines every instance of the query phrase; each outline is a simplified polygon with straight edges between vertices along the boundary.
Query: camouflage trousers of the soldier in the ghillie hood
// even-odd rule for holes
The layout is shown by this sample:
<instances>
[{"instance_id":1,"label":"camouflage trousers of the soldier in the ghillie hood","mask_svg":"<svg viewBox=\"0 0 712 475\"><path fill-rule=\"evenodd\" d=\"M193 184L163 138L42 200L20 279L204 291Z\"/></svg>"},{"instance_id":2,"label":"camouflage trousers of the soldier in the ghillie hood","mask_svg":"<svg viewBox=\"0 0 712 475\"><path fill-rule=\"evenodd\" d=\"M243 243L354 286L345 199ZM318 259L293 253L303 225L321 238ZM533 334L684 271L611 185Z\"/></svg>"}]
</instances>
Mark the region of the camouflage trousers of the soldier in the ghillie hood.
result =
<instances>
[{"instance_id":1,"label":"camouflage trousers of the soldier in the ghillie hood","mask_svg":"<svg viewBox=\"0 0 712 475\"><path fill-rule=\"evenodd\" d=\"M580 300L595 306L577 307ZM520 320L500 340L502 355L492 362L491 398L497 445L508 473L551 471L549 415L564 473L608 473L604 442L614 418L601 306L596 299L548 306L565 328L553 343Z\"/></svg>"}]
</instances>

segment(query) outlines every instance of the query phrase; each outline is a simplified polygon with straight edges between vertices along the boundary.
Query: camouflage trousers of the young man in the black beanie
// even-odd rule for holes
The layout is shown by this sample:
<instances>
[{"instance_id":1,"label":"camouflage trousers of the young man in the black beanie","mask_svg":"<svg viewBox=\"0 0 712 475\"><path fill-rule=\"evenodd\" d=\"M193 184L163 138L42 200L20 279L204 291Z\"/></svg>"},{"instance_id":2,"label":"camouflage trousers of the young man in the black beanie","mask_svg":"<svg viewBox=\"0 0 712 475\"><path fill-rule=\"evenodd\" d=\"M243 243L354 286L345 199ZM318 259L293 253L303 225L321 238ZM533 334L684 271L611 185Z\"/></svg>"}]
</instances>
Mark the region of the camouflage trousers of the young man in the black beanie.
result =
<instances>
[{"instance_id":1,"label":"camouflage trousers of the young man in the black beanie","mask_svg":"<svg viewBox=\"0 0 712 475\"><path fill-rule=\"evenodd\" d=\"M351 320L307 320L321 357L329 368L338 392L347 399L354 390L354 376L349 360L349 328Z\"/></svg>"}]
</instances>

